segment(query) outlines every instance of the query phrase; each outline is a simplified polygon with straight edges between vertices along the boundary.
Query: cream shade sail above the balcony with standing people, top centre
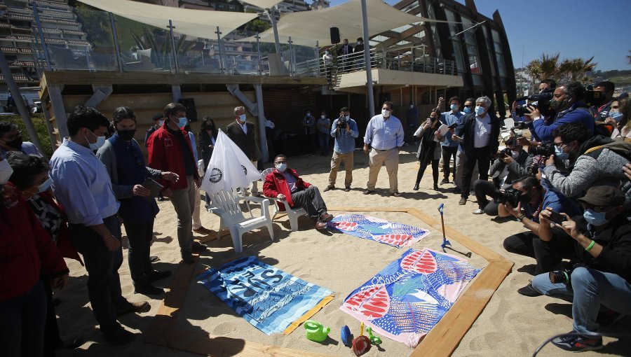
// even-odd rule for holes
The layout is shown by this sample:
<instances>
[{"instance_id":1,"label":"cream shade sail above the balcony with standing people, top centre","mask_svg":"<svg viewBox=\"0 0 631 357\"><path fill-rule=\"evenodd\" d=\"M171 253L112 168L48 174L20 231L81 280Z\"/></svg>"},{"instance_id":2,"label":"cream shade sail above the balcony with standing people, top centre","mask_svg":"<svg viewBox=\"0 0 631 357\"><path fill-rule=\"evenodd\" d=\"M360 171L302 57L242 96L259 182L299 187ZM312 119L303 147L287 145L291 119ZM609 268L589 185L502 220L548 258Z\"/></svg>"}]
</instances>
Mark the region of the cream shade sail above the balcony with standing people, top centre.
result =
<instances>
[{"instance_id":1,"label":"cream shade sail above the balcony with standing people, top centre","mask_svg":"<svg viewBox=\"0 0 631 357\"><path fill-rule=\"evenodd\" d=\"M366 0L366 7L369 36L414 22L442 22L404 13L381 0ZM280 15L277 27L280 43L287 43L291 36L295 45L315 45L316 41L320 46L330 45L330 27L337 27L340 38L348 38L350 43L354 43L363 34L361 1L350 0L321 10L284 13ZM259 36L259 41L274 42L273 29L268 29ZM256 38L251 36L243 41L256 41Z\"/></svg>"}]
</instances>

